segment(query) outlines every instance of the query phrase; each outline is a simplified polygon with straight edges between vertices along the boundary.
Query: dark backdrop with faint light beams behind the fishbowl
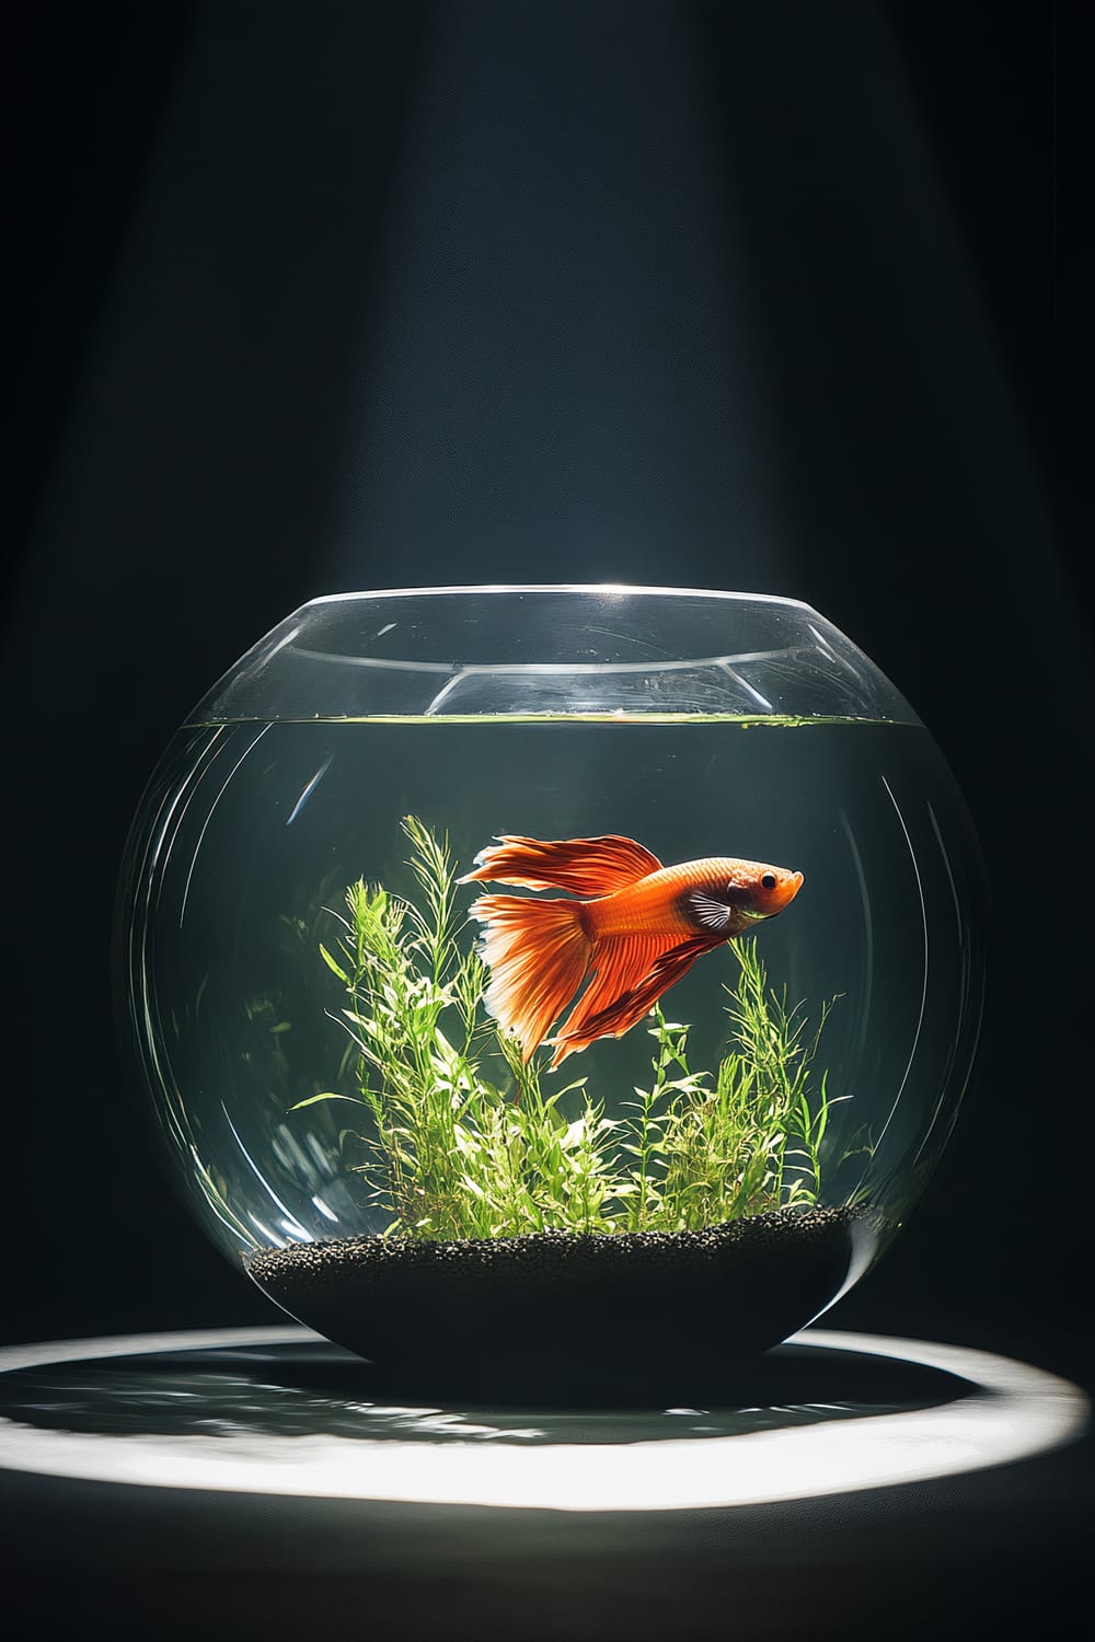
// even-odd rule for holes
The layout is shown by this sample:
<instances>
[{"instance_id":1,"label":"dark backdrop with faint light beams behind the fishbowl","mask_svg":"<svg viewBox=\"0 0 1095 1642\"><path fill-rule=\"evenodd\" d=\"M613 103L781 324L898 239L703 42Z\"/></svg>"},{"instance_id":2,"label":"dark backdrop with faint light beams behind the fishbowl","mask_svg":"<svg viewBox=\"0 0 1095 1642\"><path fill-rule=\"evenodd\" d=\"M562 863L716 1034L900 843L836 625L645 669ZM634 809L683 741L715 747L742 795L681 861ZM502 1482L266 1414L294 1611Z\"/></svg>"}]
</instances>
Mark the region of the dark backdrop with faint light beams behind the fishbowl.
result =
<instances>
[{"instance_id":1,"label":"dark backdrop with faint light beams behind the fishbowl","mask_svg":"<svg viewBox=\"0 0 1095 1642\"><path fill-rule=\"evenodd\" d=\"M5 1340L274 1320L123 1102L110 913L318 593L767 589L970 805L992 1015L827 1322L1090 1379L1092 56L1057 3L56 5L10 53Z\"/></svg>"}]
</instances>

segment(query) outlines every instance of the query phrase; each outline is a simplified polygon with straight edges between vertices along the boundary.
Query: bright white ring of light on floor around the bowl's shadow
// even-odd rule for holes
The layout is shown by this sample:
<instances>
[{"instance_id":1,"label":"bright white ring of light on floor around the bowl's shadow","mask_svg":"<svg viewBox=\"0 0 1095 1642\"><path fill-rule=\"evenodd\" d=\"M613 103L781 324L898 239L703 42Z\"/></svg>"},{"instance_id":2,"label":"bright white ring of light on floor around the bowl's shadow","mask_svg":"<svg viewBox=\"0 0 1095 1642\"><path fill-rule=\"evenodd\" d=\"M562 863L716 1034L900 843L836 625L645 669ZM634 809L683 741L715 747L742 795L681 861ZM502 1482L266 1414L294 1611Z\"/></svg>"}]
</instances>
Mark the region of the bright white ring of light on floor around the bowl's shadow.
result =
<instances>
[{"instance_id":1,"label":"bright white ring of light on floor around the bowl's shadow","mask_svg":"<svg viewBox=\"0 0 1095 1642\"><path fill-rule=\"evenodd\" d=\"M67 1361L299 1346L317 1340L309 1328L271 1327L49 1342L2 1350L0 1376ZM483 1412L481 1424L465 1432L442 1409L407 1409L407 1442L392 1440L391 1424L384 1440L371 1438L368 1420L384 1409L366 1402L360 1404L361 1437L323 1432L277 1437L246 1427L213 1435L113 1435L7 1420L0 1422L0 1466L149 1488L323 1499L566 1512L686 1511L816 1499L959 1476L1072 1442L1090 1417L1088 1401L1077 1386L987 1351L818 1328L801 1330L788 1345L919 1365L957 1376L969 1389L929 1409L775 1430L538 1447L517 1440L527 1435L520 1429L506 1433L501 1425L497 1438L484 1443L476 1438L476 1432L489 1429ZM535 1414L529 1417L535 1420ZM437 1442L428 1440L432 1430ZM453 1430L466 1440L453 1440ZM612 1432L611 1415L604 1430Z\"/></svg>"}]
</instances>

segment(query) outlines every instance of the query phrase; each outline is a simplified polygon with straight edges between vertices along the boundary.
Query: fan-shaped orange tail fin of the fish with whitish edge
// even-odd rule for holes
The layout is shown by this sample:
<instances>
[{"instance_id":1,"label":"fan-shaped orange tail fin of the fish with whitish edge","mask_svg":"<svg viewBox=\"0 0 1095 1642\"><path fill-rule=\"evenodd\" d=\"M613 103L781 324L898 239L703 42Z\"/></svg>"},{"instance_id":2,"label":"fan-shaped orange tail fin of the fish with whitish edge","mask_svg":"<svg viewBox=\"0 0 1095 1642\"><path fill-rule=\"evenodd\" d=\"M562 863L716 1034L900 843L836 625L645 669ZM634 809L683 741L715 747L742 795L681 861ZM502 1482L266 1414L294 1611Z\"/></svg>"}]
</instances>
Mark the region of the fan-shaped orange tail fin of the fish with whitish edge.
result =
<instances>
[{"instance_id":1,"label":"fan-shaped orange tail fin of the fish with whitish edge","mask_svg":"<svg viewBox=\"0 0 1095 1642\"><path fill-rule=\"evenodd\" d=\"M491 984L483 1002L502 1031L520 1041L527 1062L563 1013L589 967L581 901L481 895L470 908L484 924L483 959Z\"/></svg>"}]
</instances>

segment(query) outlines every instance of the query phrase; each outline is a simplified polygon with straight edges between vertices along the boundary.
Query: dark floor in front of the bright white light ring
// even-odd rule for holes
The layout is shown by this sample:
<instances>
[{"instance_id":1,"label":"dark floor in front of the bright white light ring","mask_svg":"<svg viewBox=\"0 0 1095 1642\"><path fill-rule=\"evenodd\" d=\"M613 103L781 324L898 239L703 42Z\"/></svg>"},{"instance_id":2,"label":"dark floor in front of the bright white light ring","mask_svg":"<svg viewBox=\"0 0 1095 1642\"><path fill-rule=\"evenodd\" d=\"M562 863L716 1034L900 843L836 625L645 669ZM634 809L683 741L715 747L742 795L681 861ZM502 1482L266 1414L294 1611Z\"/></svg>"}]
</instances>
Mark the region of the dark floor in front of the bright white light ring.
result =
<instances>
[{"instance_id":1,"label":"dark floor in front of the bright white light ring","mask_svg":"<svg viewBox=\"0 0 1095 1642\"><path fill-rule=\"evenodd\" d=\"M790 1401L793 1387L781 1391ZM905 1391L934 1396L908 1381ZM49 1422L41 1410L31 1419ZM13 1642L103 1626L169 1642L1067 1635L1075 1604L1087 1606L1093 1453L1088 1433L929 1483L594 1514L0 1471L5 1632Z\"/></svg>"}]
</instances>

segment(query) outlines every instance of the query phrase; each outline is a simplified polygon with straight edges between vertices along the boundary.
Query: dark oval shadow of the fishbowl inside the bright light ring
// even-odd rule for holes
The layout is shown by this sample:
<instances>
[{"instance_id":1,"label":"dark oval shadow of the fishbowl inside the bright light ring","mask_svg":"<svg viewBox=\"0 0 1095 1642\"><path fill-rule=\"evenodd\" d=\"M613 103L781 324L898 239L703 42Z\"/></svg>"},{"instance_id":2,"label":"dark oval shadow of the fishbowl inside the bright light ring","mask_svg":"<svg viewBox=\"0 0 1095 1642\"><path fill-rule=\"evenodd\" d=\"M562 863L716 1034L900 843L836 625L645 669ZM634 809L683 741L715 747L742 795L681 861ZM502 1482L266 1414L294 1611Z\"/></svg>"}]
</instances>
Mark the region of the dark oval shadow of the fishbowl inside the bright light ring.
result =
<instances>
[{"instance_id":1,"label":"dark oval shadow of the fishbowl inside the bright light ring","mask_svg":"<svg viewBox=\"0 0 1095 1642\"><path fill-rule=\"evenodd\" d=\"M744 1435L954 1402L969 1381L919 1363L777 1346L722 1376L717 1397L616 1404L565 1397L424 1397L405 1379L325 1342L166 1351L18 1369L0 1417L49 1430L169 1437L314 1437L394 1442L624 1443Z\"/></svg>"}]
</instances>

